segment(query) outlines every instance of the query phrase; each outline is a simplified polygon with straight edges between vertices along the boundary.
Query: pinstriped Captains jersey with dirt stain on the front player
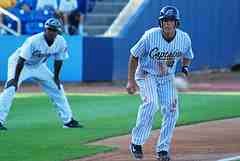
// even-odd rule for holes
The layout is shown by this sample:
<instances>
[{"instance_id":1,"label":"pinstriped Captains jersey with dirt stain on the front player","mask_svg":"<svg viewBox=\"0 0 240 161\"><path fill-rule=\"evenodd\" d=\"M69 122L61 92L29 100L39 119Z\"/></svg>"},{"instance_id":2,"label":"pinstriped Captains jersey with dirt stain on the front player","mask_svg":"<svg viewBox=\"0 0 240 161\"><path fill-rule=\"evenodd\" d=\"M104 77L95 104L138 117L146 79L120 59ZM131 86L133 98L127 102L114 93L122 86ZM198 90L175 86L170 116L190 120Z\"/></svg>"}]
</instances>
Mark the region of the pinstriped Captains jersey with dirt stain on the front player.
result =
<instances>
[{"instance_id":1,"label":"pinstriped Captains jersey with dirt stain on the front player","mask_svg":"<svg viewBox=\"0 0 240 161\"><path fill-rule=\"evenodd\" d=\"M158 76L174 75L177 62L181 58L194 57L191 39L187 33L176 29L175 38L167 42L160 27L146 31L130 52L139 58L136 78L141 76L143 71Z\"/></svg>"}]
</instances>

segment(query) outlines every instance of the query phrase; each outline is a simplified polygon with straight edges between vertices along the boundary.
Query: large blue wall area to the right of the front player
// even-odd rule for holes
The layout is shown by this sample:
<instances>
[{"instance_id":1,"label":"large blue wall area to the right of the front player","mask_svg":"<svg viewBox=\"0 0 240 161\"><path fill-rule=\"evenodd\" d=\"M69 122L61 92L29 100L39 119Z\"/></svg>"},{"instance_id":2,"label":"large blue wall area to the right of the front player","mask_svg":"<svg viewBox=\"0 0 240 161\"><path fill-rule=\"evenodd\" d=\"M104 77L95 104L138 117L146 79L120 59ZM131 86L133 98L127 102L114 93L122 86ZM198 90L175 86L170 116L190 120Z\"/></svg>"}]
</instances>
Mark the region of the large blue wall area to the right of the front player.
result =
<instances>
[{"instance_id":1,"label":"large blue wall area to the right of the front player","mask_svg":"<svg viewBox=\"0 0 240 161\"><path fill-rule=\"evenodd\" d=\"M160 6L176 5L181 28L192 38L193 69L230 67L240 51L239 0L161 0Z\"/></svg>"}]
</instances>

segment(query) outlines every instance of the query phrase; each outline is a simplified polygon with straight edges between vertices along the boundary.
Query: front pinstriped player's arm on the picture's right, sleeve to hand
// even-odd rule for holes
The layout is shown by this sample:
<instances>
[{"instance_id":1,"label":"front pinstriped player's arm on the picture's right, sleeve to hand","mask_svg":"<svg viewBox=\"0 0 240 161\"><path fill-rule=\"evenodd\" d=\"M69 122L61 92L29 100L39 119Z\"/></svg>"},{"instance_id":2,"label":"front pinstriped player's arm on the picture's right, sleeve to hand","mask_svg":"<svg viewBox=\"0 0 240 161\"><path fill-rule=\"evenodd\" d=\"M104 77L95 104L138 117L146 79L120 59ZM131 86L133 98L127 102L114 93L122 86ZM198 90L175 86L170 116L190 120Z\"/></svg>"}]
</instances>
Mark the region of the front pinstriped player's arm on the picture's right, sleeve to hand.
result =
<instances>
[{"instance_id":1,"label":"front pinstriped player's arm on the picture's right, sleeve to hand","mask_svg":"<svg viewBox=\"0 0 240 161\"><path fill-rule=\"evenodd\" d=\"M192 50L192 42L188 35L186 35L187 41L187 50L182 57L182 73L185 76L189 75L189 66L191 65L192 59L194 58L193 50Z\"/></svg>"}]
</instances>

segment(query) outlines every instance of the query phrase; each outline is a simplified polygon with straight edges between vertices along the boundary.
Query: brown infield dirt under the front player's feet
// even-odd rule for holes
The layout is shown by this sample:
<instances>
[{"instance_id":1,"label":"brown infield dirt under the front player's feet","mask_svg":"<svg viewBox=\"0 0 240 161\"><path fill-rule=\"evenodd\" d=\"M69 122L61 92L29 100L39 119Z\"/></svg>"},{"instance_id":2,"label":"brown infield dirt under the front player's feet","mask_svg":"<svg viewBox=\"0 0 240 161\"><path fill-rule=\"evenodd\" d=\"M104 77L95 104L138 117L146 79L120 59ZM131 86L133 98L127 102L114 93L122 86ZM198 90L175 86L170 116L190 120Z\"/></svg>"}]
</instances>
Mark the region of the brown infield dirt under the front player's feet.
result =
<instances>
[{"instance_id":1,"label":"brown infield dirt under the front player's feet","mask_svg":"<svg viewBox=\"0 0 240 161\"><path fill-rule=\"evenodd\" d=\"M177 127L172 142L172 161L216 161L240 155L240 118ZM144 145L144 161L154 161L154 146L159 131L152 132ZM92 143L119 148L105 154L74 161L131 161L130 136L119 136Z\"/></svg>"}]
</instances>

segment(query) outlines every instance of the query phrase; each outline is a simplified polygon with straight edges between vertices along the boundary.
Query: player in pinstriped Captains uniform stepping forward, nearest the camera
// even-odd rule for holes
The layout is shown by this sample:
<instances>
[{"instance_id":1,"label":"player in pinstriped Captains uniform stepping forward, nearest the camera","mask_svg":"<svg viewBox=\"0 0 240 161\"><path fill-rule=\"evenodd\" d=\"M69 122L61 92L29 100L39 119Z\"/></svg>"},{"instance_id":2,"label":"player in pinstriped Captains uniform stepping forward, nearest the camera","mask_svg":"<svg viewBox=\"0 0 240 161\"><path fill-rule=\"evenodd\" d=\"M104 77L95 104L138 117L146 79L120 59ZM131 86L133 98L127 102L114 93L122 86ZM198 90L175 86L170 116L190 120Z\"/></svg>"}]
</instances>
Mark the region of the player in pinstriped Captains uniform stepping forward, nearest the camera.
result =
<instances>
[{"instance_id":1,"label":"player in pinstriped Captains uniform stepping forward, nearest the camera","mask_svg":"<svg viewBox=\"0 0 240 161\"><path fill-rule=\"evenodd\" d=\"M170 160L170 144L179 111L177 89L173 83L176 64L181 60L182 72L188 76L193 59L191 39L178 29L179 20L176 7L163 7L159 16L160 27L146 31L130 50L126 88L129 94L133 94L138 86L142 100L129 147L136 159L143 158L142 146L150 135L154 115L159 110L163 119L156 158L159 161Z\"/></svg>"}]
</instances>

